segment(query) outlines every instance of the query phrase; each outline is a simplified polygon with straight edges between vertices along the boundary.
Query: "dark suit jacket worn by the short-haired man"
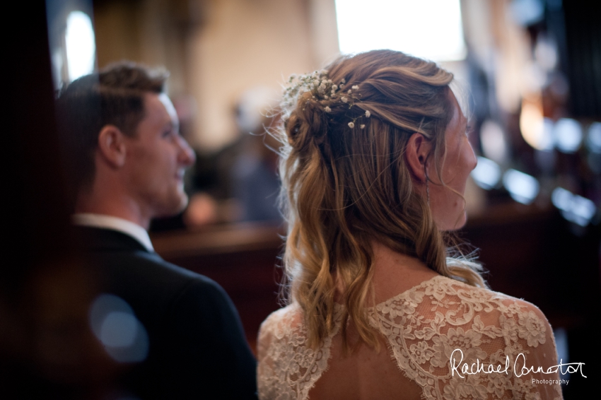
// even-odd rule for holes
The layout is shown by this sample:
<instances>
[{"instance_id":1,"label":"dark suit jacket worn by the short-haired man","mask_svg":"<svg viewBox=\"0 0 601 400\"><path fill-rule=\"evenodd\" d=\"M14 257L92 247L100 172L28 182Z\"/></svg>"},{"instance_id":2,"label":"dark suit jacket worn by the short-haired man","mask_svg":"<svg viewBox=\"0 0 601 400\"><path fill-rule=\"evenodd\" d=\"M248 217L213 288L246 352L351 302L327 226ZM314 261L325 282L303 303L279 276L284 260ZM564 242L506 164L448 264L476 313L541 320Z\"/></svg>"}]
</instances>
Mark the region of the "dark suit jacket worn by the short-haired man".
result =
<instances>
[{"instance_id":1,"label":"dark suit jacket worn by the short-haired man","mask_svg":"<svg viewBox=\"0 0 601 400\"><path fill-rule=\"evenodd\" d=\"M230 298L115 230L76 227L100 290L132 307L148 356L122 387L140 399L256 399L256 361Z\"/></svg>"}]
</instances>

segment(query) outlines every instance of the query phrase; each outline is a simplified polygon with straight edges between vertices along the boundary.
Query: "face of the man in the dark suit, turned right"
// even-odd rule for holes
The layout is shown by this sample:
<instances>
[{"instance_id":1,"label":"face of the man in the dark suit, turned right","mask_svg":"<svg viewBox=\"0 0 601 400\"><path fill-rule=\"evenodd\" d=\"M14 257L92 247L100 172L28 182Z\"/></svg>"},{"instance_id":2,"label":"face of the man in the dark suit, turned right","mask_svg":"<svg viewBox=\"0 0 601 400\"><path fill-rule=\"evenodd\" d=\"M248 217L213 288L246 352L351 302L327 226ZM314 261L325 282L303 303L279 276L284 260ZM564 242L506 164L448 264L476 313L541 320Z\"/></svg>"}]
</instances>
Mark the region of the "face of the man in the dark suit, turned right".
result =
<instances>
[{"instance_id":1,"label":"face of the man in the dark suit, turned right","mask_svg":"<svg viewBox=\"0 0 601 400\"><path fill-rule=\"evenodd\" d=\"M155 218L182 211L188 201L184 172L195 157L180 136L177 114L167 95L144 96L144 119L136 135L125 140L127 187L141 213Z\"/></svg>"}]
</instances>

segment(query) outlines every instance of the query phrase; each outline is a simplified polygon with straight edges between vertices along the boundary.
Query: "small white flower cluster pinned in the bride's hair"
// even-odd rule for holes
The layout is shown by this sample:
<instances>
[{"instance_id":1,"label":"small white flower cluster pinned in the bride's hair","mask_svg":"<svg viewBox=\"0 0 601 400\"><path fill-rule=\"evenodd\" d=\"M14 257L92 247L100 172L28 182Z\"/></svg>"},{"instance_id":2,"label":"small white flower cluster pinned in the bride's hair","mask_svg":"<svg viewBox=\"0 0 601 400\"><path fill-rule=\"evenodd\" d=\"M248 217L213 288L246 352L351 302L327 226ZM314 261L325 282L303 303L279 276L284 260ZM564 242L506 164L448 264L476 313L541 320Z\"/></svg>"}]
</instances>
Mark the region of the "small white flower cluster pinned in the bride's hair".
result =
<instances>
[{"instance_id":1,"label":"small white flower cluster pinned in the bride's hair","mask_svg":"<svg viewBox=\"0 0 601 400\"><path fill-rule=\"evenodd\" d=\"M284 98L282 100L282 110L284 111L284 119L286 119L294 107L298 103L298 99L305 93L310 93L311 98L323 106L325 112L332 112L330 106L334 105L337 101L344 102L349 108L355 105L355 102L360 101L359 98L354 95L354 90L359 90L358 85L353 85L346 93L343 91L346 85L346 80L343 78L339 83L332 82L327 76L327 71L322 69L321 71L314 71L307 75L292 75L288 79L288 84L284 88ZM353 129L355 122L358 118L355 117L349 122L349 127ZM365 112L365 117L370 117L370 112ZM361 129L365 128L365 124L360 124Z\"/></svg>"}]
</instances>

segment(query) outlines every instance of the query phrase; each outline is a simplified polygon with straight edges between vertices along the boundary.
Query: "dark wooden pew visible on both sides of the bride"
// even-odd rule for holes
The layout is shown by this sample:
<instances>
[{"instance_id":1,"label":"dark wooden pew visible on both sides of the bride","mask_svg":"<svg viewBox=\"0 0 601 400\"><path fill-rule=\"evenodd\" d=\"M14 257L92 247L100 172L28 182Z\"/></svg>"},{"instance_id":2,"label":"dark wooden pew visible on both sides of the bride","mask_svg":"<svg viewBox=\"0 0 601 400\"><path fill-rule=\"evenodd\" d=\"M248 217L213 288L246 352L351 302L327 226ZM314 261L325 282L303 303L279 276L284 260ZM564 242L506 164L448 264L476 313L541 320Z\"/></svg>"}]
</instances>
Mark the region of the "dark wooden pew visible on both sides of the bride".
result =
<instances>
[{"instance_id":1,"label":"dark wooden pew visible on both sides of the bride","mask_svg":"<svg viewBox=\"0 0 601 400\"><path fill-rule=\"evenodd\" d=\"M586 329L583 304L600 315L599 226L573 233L551 207L506 203L470 216L457 235L478 247L486 279L496 291L537 305L553 327ZM240 312L247 339L281 306L279 268L284 229L272 225L222 225L156 233L158 254L217 281Z\"/></svg>"}]
</instances>

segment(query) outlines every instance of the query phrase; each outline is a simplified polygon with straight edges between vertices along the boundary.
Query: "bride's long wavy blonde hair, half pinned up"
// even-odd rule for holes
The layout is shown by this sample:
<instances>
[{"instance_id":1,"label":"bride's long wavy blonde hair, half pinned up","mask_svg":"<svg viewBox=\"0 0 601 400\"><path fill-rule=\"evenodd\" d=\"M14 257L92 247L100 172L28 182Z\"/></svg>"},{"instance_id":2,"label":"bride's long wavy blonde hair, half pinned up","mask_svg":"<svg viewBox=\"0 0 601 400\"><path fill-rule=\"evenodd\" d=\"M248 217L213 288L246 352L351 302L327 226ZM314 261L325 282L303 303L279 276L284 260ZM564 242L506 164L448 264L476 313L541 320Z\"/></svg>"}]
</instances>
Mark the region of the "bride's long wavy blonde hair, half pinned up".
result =
<instances>
[{"instance_id":1,"label":"bride's long wavy blonde hair, half pinned up","mask_svg":"<svg viewBox=\"0 0 601 400\"><path fill-rule=\"evenodd\" d=\"M433 143L434 172L443 182L453 74L431 61L376 50L341 57L300 79L286 92L284 124L276 132L288 298L301 306L309 344L317 346L334 327L335 272L345 321L350 317L361 339L379 348L366 315L373 305L373 240L443 276L485 285L478 264L448 257L445 234L414 190L404 160L409 136L423 134ZM346 323L342 328L346 340Z\"/></svg>"}]
</instances>

